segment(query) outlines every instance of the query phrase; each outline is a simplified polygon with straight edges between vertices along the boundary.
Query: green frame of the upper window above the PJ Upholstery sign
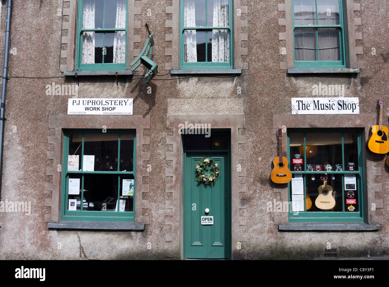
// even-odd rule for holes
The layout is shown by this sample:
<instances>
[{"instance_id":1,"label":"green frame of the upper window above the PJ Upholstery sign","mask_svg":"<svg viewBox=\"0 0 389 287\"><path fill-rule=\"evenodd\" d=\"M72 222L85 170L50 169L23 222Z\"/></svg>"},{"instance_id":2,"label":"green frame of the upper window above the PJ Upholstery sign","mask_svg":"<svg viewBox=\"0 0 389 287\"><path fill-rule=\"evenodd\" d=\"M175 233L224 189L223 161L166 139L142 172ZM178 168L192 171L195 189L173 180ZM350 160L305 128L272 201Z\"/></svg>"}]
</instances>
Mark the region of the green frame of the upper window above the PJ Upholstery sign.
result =
<instances>
[{"instance_id":1,"label":"green frame of the upper window above the PJ Upholstery sign","mask_svg":"<svg viewBox=\"0 0 389 287\"><path fill-rule=\"evenodd\" d=\"M127 67L127 40L128 40L128 0L126 1L126 27L125 28L82 28L83 23L83 9L84 9L84 2L86 0L80 0L78 3L78 17L77 17L77 45L76 45L76 70L77 71L115 71L115 70L126 70ZM100 0L100 2L103 2L103 7L106 7L105 4L107 3L109 5L110 0ZM97 10L97 9L95 9ZM103 9L103 22L102 26L105 26L105 8ZM105 46L106 44L106 35L114 34L115 32L125 32L125 39L126 39L126 48L125 48L125 60L124 63L104 63L104 56L107 55L107 48ZM103 47L102 49L102 63L81 63L82 61L82 42L83 42L83 33L84 32L94 32L95 35L97 34L103 34ZM111 37L112 38L112 37Z\"/></svg>"}]
</instances>

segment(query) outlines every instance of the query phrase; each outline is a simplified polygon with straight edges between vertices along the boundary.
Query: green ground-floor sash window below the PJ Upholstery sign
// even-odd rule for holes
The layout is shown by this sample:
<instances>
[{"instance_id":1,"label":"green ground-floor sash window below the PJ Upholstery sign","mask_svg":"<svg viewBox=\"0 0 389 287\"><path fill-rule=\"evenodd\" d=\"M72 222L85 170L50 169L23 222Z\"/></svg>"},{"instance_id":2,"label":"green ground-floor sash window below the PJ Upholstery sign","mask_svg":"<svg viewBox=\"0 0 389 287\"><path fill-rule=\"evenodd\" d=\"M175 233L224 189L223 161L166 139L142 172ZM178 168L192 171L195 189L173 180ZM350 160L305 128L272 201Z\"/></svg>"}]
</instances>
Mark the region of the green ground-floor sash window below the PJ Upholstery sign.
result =
<instances>
[{"instance_id":1,"label":"green ground-floor sash window below the PJ Upholstery sign","mask_svg":"<svg viewBox=\"0 0 389 287\"><path fill-rule=\"evenodd\" d=\"M135 132L65 132L62 219L134 221Z\"/></svg>"}]
</instances>

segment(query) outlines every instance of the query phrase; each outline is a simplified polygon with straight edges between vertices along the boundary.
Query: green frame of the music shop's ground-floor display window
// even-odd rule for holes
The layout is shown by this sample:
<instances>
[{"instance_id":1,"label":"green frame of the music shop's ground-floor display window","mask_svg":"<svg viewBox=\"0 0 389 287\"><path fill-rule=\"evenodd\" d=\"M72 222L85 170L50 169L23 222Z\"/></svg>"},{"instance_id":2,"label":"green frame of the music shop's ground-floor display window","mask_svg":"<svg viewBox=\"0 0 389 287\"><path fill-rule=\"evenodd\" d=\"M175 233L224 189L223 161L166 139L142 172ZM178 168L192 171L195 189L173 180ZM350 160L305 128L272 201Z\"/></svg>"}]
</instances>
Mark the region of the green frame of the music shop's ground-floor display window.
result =
<instances>
[{"instance_id":1,"label":"green frame of the music shop's ground-floor display window","mask_svg":"<svg viewBox=\"0 0 389 287\"><path fill-rule=\"evenodd\" d=\"M336 133L341 134L342 138L342 160L339 158L336 159L336 164L342 164L342 171L336 171L335 165L332 169L332 171L307 171L307 133ZM303 164L301 165L300 171L294 170L294 165L292 159L294 158L294 155L291 154L291 135L292 134L303 134L303 142L301 142L301 147L303 144L303 154L301 153L301 158L303 159ZM348 137L345 138L345 134L347 134ZM357 150L357 164L355 164L354 171L348 171L348 162L345 161L345 152L347 149L345 149L346 144L350 144L350 134L356 136L356 144L357 146L354 146L354 149ZM312 137L311 137L312 138ZM345 141L347 139L347 141ZM288 168L291 170L292 178L294 178L297 174L302 175L303 177L303 190L304 190L304 211L300 212L293 212L292 211L292 191L291 191L291 182L288 183L288 201L289 201L289 222L364 222L364 172L363 172L363 166L364 166L364 159L363 159L363 151L362 148L364 146L363 143L363 131L361 129L345 129L345 128L338 128L338 129L287 129L287 158L289 160ZM350 146L349 146L350 147ZM300 147L299 147L300 148ZM335 147L334 147L335 149ZM308 151L310 150L310 147L308 146ZM294 149L296 151L296 149ZM299 149L300 151L300 149ZM355 150L354 150L355 152ZM294 152L292 152L294 153ZM348 153L348 152L347 152ZM333 155L335 157L335 155ZM312 156L311 156L312 158ZM312 163L312 161L311 161ZM315 163L317 165L322 165L322 163ZM333 163L331 163L333 164ZM346 168L347 166L347 168ZM340 185L342 186L342 194L339 196L338 200L336 200L336 207L339 211L307 211L307 192L308 190L312 192L312 185L317 191L318 185L317 182L320 182L320 184L323 184L324 181L321 181L320 178L322 174L328 175L328 181L331 183L327 183L328 185L333 184L333 190L336 190L338 195L340 192L340 189L337 189ZM347 189L345 193L345 184L344 184L344 177L348 174L354 174L356 177L356 196L354 199L357 200L357 204L354 204L353 206L356 207L357 205L357 211L350 212L347 209L347 206L350 206L350 204L346 204L346 200L349 199L347 194L349 193L349 189ZM330 181L331 177L334 177L335 180L338 181L338 184L335 184L335 180ZM340 176L340 179L338 178ZM315 178L315 181L311 184L313 178ZM340 182L341 180L341 182ZM310 188L310 189L308 189ZM311 200L312 200L312 207L315 206L315 198L311 194ZM342 201L342 203L338 201ZM352 205L352 204L351 204ZM342 207L342 208L340 208ZM310 208L311 209L311 208ZM319 209L319 208L317 208Z\"/></svg>"}]
</instances>

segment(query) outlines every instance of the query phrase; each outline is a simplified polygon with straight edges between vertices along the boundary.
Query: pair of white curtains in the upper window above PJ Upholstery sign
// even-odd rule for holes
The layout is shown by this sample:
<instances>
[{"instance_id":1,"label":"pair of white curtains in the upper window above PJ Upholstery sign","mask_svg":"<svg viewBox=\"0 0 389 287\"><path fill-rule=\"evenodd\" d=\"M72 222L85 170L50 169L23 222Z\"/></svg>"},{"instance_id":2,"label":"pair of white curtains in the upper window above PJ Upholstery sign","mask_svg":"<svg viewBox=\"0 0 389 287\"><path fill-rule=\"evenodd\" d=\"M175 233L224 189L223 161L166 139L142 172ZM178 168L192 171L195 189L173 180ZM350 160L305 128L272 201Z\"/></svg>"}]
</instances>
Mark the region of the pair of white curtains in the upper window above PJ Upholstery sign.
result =
<instances>
[{"instance_id":1,"label":"pair of white curtains in the upper window above PJ Upholstery sign","mask_svg":"<svg viewBox=\"0 0 389 287\"><path fill-rule=\"evenodd\" d=\"M126 0L117 0L115 28L126 28ZM95 28L96 0L84 0L82 13L82 28ZM115 32L113 63L125 63L126 61L126 32ZM82 33L82 64L95 63L95 32Z\"/></svg>"}]
</instances>

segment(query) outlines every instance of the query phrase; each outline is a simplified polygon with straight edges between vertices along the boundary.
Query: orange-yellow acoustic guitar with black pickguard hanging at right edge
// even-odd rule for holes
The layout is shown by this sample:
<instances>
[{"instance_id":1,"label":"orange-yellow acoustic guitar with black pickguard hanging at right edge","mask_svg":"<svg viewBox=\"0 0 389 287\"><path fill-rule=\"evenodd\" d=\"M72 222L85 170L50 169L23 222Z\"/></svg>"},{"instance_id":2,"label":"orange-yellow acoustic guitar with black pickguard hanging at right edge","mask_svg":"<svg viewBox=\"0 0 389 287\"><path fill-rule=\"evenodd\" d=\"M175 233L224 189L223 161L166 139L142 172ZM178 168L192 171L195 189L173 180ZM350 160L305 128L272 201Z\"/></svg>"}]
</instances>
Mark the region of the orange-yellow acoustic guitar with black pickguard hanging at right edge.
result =
<instances>
[{"instance_id":1,"label":"orange-yellow acoustic guitar with black pickguard hanging at right edge","mask_svg":"<svg viewBox=\"0 0 389 287\"><path fill-rule=\"evenodd\" d=\"M388 140L388 128L382 126L382 105L384 100L378 99L380 104L380 124L377 126L371 126L370 136L366 141L366 148L376 154L386 154L389 152L389 140Z\"/></svg>"}]
</instances>

